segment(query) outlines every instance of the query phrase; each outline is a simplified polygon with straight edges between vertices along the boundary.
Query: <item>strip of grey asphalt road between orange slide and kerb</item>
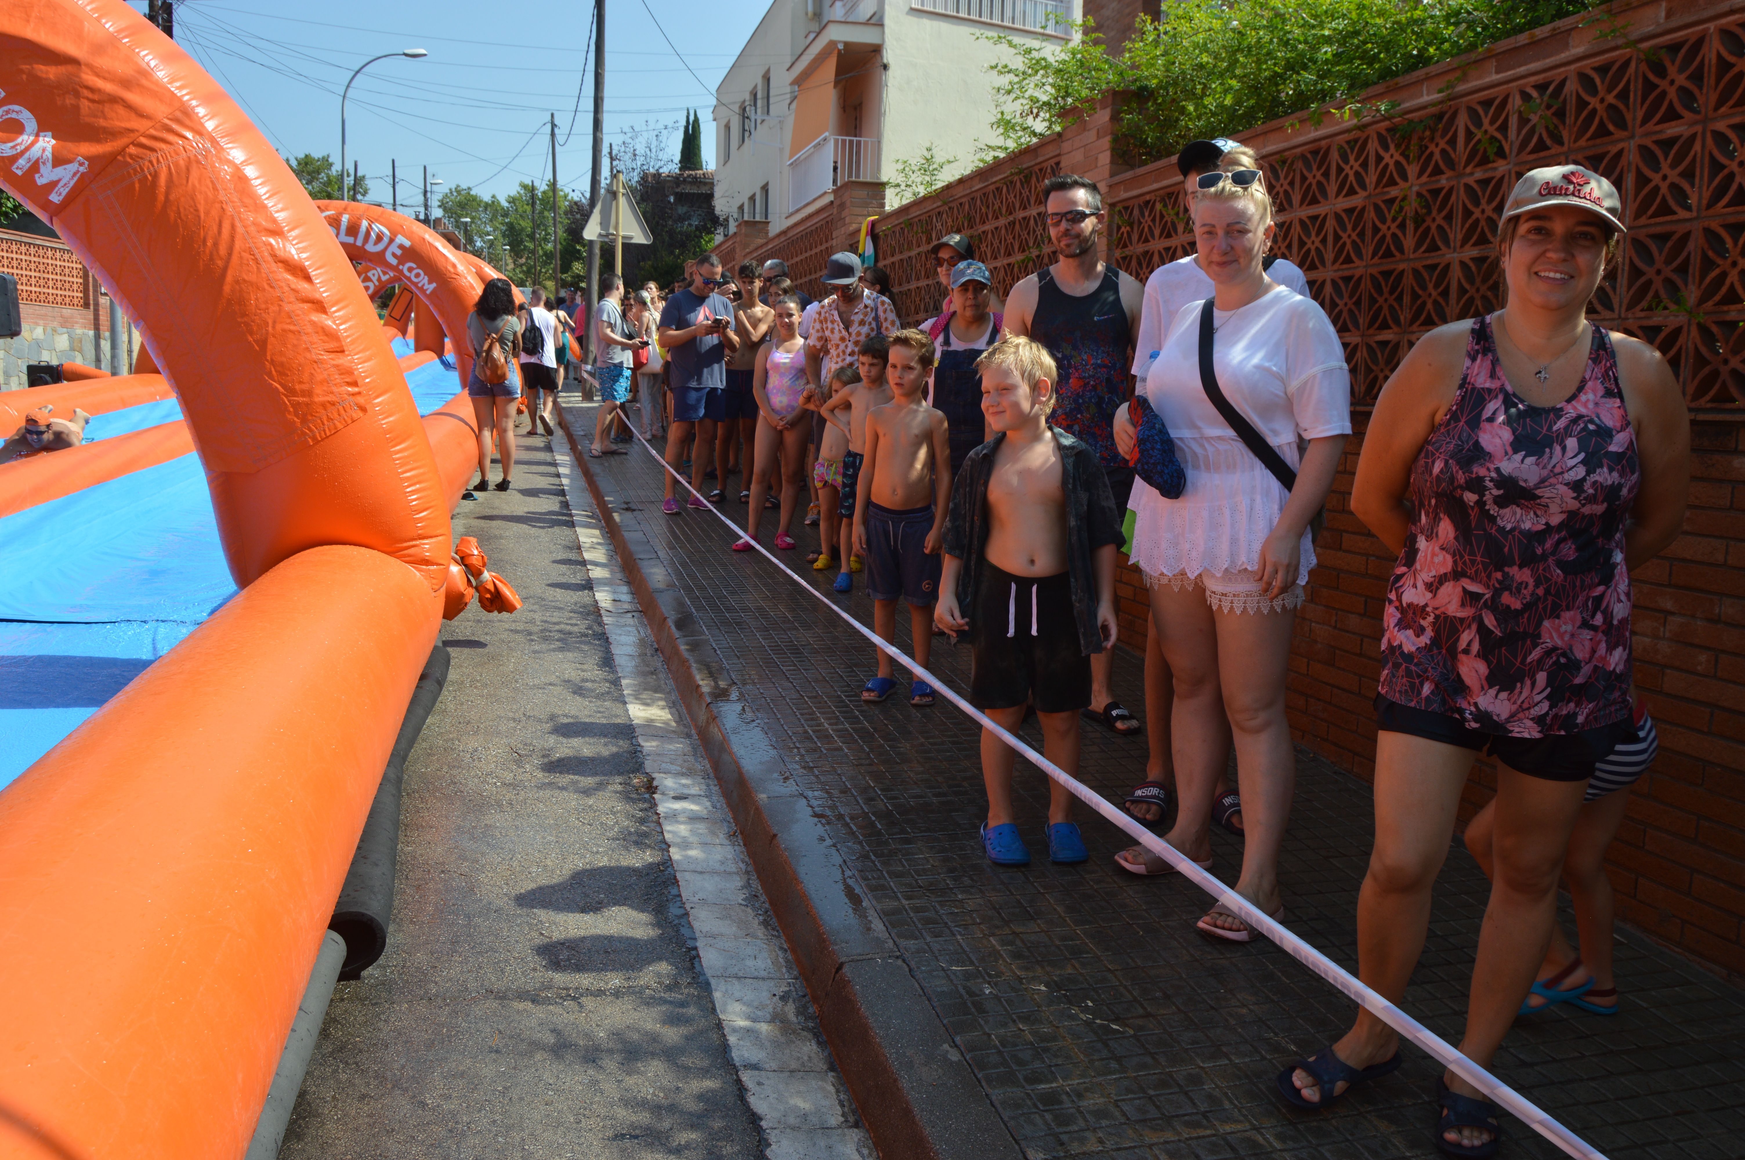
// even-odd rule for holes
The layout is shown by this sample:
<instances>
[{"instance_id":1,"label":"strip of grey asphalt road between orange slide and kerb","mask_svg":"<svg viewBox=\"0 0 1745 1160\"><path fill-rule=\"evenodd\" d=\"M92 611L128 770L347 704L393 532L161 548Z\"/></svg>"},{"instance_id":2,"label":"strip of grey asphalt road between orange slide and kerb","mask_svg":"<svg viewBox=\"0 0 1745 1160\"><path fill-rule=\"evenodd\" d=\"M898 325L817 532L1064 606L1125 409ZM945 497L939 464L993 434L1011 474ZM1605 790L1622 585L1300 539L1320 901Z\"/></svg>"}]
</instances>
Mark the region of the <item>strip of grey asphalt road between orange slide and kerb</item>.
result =
<instances>
[{"instance_id":1,"label":"strip of grey asphalt road between orange slide and kerb","mask_svg":"<svg viewBox=\"0 0 1745 1160\"><path fill-rule=\"evenodd\" d=\"M443 626L387 954L339 984L284 1160L761 1153L551 448L517 441L455 534L525 607Z\"/></svg>"}]
</instances>

